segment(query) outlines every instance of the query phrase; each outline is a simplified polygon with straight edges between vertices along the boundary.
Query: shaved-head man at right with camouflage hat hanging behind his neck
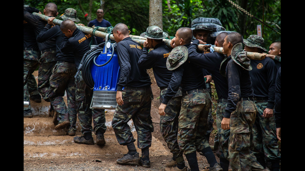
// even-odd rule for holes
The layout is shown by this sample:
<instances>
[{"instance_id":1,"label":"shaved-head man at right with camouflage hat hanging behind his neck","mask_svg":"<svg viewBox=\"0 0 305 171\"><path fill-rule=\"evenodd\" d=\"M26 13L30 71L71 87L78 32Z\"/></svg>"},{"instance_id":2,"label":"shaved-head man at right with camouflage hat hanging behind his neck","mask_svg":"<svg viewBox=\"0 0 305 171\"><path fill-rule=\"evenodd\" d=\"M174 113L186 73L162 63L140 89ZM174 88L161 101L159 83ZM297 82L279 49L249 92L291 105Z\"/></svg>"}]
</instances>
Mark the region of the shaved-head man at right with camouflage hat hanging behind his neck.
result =
<instances>
[{"instance_id":1,"label":"shaved-head man at right with camouflage hat hanging behind his neck","mask_svg":"<svg viewBox=\"0 0 305 171\"><path fill-rule=\"evenodd\" d=\"M252 67L247 52L242 50L242 42L242 35L237 32L229 33L223 42L223 52L228 55L226 77L229 92L221 128L230 129L229 158L232 170L265 170L250 150L256 106L249 74Z\"/></svg>"}]
</instances>

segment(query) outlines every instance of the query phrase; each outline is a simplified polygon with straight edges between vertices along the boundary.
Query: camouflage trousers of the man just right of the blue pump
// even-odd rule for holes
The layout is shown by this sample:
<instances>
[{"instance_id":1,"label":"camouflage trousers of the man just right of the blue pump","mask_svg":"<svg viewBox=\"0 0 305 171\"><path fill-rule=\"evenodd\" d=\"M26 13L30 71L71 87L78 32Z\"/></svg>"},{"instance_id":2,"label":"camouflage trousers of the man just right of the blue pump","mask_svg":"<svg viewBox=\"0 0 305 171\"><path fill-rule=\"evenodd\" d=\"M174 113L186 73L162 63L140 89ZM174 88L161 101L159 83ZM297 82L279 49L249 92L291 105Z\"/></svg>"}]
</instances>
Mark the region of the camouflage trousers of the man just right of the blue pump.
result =
<instances>
[{"instance_id":1,"label":"camouflage trousers of the man just right of the blue pump","mask_svg":"<svg viewBox=\"0 0 305 171\"><path fill-rule=\"evenodd\" d=\"M124 104L115 108L112 128L120 145L135 142L128 121L132 119L138 134L138 148L148 148L152 143L153 122L150 115L153 92L150 86L125 88L122 91Z\"/></svg>"}]
</instances>

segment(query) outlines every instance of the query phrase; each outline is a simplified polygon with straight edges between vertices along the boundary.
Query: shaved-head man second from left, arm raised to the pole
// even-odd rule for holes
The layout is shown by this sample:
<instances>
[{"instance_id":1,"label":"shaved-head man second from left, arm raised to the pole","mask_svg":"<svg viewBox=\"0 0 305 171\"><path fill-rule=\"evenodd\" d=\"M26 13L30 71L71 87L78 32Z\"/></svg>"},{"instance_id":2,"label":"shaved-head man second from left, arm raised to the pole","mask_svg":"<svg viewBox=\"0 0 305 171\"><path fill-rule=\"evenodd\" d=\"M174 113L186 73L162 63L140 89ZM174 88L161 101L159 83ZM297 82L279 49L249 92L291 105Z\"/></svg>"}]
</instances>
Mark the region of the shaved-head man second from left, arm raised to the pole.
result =
<instances>
[{"instance_id":1,"label":"shaved-head man second from left, arm raised to the pole","mask_svg":"<svg viewBox=\"0 0 305 171\"><path fill-rule=\"evenodd\" d=\"M33 26L35 36L37 37L40 31L47 24L47 21L42 20L39 16L32 14L33 12L39 12L39 10L34 7L24 8L23 17L28 23L30 23ZM56 4L52 2L47 3L45 5L44 15L56 17L58 15ZM45 41L44 43L38 43L38 47L41 53L39 59L40 65L38 69L38 91L40 92L42 98L45 101L50 102L47 93L50 87L49 78L52 74L52 68L56 63L55 39L53 38L53 39L49 39L48 41ZM50 111L49 116L53 116L54 108L52 104L50 104L49 111Z\"/></svg>"}]
</instances>

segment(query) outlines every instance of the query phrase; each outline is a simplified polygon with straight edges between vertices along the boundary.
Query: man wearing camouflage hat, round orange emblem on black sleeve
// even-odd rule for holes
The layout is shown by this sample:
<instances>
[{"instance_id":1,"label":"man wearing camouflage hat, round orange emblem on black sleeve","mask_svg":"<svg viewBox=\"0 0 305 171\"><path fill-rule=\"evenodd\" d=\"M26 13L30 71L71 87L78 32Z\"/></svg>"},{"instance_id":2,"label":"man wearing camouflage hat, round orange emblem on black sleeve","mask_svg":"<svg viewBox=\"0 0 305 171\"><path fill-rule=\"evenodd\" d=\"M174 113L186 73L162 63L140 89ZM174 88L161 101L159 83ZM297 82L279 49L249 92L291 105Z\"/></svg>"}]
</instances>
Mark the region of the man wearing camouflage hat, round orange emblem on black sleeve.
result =
<instances>
[{"instance_id":1,"label":"man wearing camouflage hat, round orange emblem on black sleeve","mask_svg":"<svg viewBox=\"0 0 305 171\"><path fill-rule=\"evenodd\" d=\"M265 52L264 39L258 35L250 35L243 41L247 52ZM276 138L275 117L273 115L275 101L276 66L270 58L263 60L251 59L252 70L249 71L254 100L257 108L253 125L253 151L256 159L265 168L271 162L272 171L279 171L279 145Z\"/></svg>"}]
</instances>

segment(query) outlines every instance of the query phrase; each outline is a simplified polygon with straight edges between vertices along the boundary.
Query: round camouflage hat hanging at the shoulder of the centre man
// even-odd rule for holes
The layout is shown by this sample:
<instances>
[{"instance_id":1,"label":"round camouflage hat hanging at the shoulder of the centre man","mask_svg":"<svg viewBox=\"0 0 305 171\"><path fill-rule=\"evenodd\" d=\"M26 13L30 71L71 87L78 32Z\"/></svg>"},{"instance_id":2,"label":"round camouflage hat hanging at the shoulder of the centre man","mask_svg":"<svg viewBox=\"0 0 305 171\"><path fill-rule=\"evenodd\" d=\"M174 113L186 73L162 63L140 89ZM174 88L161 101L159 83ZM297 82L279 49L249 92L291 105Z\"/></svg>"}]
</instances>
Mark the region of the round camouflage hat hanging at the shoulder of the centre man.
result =
<instances>
[{"instance_id":1,"label":"round camouflage hat hanging at the shoulder of the centre man","mask_svg":"<svg viewBox=\"0 0 305 171\"><path fill-rule=\"evenodd\" d=\"M166 67L168 70L175 70L182 65L188 56L188 50L185 46L177 46L173 48L167 57Z\"/></svg>"}]
</instances>

